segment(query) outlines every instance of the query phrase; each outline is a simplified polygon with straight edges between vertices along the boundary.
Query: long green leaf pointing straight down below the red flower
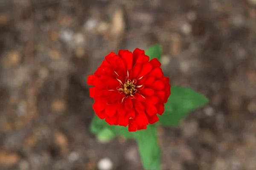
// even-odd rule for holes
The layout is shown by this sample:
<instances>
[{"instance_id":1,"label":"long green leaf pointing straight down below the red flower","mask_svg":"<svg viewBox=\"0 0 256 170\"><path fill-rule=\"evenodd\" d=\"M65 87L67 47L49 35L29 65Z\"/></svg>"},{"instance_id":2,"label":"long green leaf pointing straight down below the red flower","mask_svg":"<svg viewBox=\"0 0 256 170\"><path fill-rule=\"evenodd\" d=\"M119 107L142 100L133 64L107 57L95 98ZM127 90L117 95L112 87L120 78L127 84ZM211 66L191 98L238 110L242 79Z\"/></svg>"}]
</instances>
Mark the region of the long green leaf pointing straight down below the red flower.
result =
<instances>
[{"instance_id":1,"label":"long green leaf pointing straight down below the red flower","mask_svg":"<svg viewBox=\"0 0 256 170\"><path fill-rule=\"evenodd\" d=\"M161 150L157 143L156 126L148 125L146 130L138 130L132 134L137 141L145 170L160 170Z\"/></svg>"}]
</instances>

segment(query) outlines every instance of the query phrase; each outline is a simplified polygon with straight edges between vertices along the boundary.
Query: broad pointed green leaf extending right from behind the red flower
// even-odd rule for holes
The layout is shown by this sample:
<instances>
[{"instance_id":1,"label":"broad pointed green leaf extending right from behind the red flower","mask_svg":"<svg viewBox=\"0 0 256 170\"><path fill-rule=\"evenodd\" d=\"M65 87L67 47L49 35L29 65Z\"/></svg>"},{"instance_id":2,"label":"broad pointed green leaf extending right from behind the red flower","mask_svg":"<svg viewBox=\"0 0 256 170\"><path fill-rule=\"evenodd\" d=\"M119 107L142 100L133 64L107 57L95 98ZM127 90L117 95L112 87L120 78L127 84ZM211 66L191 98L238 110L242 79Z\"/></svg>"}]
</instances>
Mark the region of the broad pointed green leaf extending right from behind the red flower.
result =
<instances>
[{"instance_id":1,"label":"broad pointed green leaf extending right from behind the red flower","mask_svg":"<svg viewBox=\"0 0 256 170\"><path fill-rule=\"evenodd\" d=\"M171 95L165 104L165 112L159 117L161 125L176 126L189 112L207 104L209 100L189 88L172 86Z\"/></svg>"}]
</instances>

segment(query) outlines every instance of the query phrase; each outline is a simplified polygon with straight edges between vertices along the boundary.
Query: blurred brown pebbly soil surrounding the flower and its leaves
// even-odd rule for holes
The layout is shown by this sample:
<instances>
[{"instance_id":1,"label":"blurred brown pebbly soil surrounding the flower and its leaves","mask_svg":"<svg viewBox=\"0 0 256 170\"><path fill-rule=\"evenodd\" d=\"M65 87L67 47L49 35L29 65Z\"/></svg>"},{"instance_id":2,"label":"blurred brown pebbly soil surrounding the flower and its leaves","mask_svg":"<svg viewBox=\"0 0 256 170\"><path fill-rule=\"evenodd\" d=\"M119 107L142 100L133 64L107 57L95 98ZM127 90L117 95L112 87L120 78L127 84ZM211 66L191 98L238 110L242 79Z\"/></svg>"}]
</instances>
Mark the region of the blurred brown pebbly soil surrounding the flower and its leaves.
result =
<instances>
[{"instance_id":1,"label":"blurred brown pebbly soil surrounding the flower and its leaves","mask_svg":"<svg viewBox=\"0 0 256 170\"><path fill-rule=\"evenodd\" d=\"M162 170L256 170L256 0L0 0L0 170L143 170L90 134L87 76L159 43L172 85L209 105L159 127Z\"/></svg>"}]
</instances>

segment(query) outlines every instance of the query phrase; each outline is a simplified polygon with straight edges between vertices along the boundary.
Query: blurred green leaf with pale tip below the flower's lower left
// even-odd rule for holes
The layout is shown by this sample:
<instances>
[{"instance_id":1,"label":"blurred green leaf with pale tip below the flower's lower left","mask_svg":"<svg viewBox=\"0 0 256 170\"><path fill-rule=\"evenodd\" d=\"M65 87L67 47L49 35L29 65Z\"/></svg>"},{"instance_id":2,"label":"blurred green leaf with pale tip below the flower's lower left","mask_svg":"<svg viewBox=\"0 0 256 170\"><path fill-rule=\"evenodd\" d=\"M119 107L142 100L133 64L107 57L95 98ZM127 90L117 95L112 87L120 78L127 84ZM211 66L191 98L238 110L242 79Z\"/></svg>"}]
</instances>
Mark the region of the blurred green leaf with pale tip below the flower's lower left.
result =
<instances>
[{"instance_id":1,"label":"blurred green leaf with pale tip below the flower's lower left","mask_svg":"<svg viewBox=\"0 0 256 170\"><path fill-rule=\"evenodd\" d=\"M106 130L106 128L108 130ZM125 138L131 138L132 134L128 132L128 127L109 125L105 120L99 119L97 115L94 115L93 120L90 123L90 132L96 134L96 136L104 136L102 133L108 133L111 136L111 131L114 136L124 136ZM106 137L103 137L106 138ZM110 137L109 137L110 138ZM113 139L113 137L111 138Z\"/></svg>"}]
</instances>

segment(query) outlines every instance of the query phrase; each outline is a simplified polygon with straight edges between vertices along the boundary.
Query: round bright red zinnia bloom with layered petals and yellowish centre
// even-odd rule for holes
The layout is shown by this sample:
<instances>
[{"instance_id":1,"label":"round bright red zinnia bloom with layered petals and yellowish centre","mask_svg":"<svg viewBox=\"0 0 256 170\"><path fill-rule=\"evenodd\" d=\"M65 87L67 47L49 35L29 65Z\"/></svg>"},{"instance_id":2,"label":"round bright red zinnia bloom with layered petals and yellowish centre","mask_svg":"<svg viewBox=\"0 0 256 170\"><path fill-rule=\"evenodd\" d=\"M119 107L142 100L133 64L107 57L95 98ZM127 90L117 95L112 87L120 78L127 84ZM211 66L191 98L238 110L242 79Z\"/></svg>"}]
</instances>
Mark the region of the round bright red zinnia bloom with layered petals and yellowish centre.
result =
<instances>
[{"instance_id":1,"label":"round bright red zinnia bloom with layered petals and yellowish centre","mask_svg":"<svg viewBox=\"0 0 256 170\"><path fill-rule=\"evenodd\" d=\"M163 77L161 63L136 48L133 53L111 52L88 76L93 109L109 125L127 126L129 131L146 129L157 122L171 94L169 78Z\"/></svg>"}]
</instances>

